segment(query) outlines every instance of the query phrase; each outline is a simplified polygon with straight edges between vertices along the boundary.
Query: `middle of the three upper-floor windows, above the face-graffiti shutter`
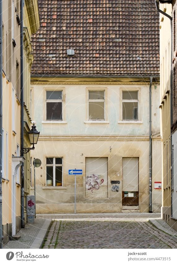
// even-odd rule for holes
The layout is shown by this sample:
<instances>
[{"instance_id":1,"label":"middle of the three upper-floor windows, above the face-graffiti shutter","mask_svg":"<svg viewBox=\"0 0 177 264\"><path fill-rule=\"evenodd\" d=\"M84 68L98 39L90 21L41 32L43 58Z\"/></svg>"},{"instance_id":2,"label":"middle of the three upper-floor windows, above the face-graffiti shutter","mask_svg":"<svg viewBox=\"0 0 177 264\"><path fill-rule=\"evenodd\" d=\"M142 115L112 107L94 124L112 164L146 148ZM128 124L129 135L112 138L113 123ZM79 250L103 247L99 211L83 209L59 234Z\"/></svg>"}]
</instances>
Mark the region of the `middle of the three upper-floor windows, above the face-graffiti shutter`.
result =
<instances>
[{"instance_id":1,"label":"middle of the three upper-floor windows, above the face-graffiti shutter","mask_svg":"<svg viewBox=\"0 0 177 264\"><path fill-rule=\"evenodd\" d=\"M88 120L105 120L105 91L89 91Z\"/></svg>"}]
</instances>

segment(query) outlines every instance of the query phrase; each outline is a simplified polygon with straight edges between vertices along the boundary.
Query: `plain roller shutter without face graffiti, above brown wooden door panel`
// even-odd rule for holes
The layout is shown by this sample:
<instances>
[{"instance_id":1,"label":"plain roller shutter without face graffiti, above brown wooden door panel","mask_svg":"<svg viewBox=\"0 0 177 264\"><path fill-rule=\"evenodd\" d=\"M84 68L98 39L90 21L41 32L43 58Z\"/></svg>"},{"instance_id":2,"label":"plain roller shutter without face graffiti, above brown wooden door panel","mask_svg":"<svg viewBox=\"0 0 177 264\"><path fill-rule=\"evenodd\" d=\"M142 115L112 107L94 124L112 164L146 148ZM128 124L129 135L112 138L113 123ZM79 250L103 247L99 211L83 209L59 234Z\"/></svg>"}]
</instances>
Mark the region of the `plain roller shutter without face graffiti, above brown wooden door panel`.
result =
<instances>
[{"instance_id":1,"label":"plain roller shutter without face graffiti, above brown wooden door panel","mask_svg":"<svg viewBox=\"0 0 177 264\"><path fill-rule=\"evenodd\" d=\"M139 158L122 158L122 191L138 192Z\"/></svg>"}]
</instances>

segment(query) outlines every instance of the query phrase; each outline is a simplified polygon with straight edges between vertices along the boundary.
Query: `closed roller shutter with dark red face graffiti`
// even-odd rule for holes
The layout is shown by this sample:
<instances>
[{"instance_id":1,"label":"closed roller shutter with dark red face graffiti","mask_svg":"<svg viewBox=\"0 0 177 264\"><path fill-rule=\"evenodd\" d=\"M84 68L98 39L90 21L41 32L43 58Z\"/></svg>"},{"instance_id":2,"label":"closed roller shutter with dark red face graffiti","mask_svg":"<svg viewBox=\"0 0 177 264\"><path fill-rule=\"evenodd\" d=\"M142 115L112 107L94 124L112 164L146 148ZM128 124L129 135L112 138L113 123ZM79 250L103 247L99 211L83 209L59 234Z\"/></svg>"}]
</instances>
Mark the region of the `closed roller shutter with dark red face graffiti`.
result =
<instances>
[{"instance_id":1,"label":"closed roller shutter with dark red face graffiti","mask_svg":"<svg viewBox=\"0 0 177 264\"><path fill-rule=\"evenodd\" d=\"M108 197L108 158L86 158L86 198Z\"/></svg>"}]
</instances>

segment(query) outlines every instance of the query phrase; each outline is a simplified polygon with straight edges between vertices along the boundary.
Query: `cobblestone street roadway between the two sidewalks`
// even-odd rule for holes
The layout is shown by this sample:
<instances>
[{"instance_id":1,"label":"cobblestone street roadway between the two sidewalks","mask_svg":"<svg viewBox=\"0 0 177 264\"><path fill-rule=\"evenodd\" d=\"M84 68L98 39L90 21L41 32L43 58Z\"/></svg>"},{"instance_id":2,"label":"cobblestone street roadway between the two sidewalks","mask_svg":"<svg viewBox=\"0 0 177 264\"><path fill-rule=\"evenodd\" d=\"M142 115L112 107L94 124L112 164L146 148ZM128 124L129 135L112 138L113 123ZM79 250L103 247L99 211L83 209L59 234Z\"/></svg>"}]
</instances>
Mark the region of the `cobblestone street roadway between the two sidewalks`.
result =
<instances>
[{"instance_id":1,"label":"cobblestone street roadway between the two sidewalks","mask_svg":"<svg viewBox=\"0 0 177 264\"><path fill-rule=\"evenodd\" d=\"M177 248L177 237L144 221L53 221L43 248Z\"/></svg>"}]
</instances>

